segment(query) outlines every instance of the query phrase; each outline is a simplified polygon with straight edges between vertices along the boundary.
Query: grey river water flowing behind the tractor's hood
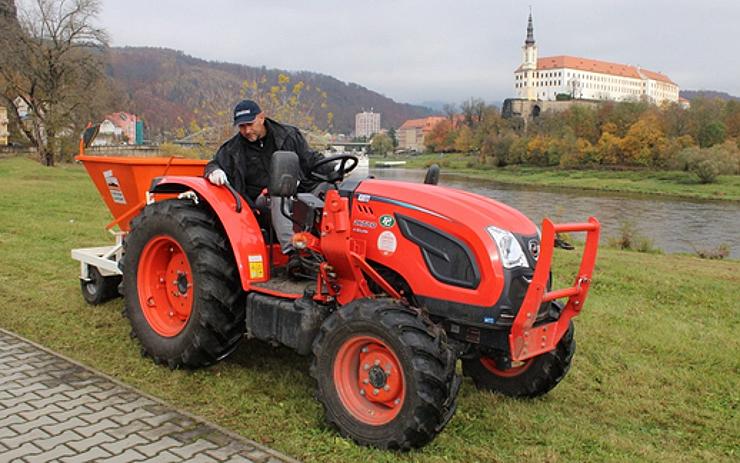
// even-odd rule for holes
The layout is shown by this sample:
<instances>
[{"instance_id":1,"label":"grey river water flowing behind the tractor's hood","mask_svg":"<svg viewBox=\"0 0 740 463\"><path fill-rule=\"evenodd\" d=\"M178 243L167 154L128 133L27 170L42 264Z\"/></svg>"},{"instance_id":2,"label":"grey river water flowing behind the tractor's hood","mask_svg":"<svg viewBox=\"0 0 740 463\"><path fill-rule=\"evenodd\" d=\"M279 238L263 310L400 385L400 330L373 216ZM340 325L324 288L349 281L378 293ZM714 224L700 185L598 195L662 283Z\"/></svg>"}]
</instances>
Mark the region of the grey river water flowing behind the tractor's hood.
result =
<instances>
[{"instance_id":1,"label":"grey river water flowing behind the tractor's hood","mask_svg":"<svg viewBox=\"0 0 740 463\"><path fill-rule=\"evenodd\" d=\"M422 182L425 172L412 169L372 169L376 178ZM698 249L730 246L730 257L740 259L740 202L701 201L590 190L529 188L443 172L440 185L493 198L527 215L536 224L544 217L554 222L585 222L593 215L602 225L602 242L631 222L637 235L667 253L694 253Z\"/></svg>"}]
</instances>

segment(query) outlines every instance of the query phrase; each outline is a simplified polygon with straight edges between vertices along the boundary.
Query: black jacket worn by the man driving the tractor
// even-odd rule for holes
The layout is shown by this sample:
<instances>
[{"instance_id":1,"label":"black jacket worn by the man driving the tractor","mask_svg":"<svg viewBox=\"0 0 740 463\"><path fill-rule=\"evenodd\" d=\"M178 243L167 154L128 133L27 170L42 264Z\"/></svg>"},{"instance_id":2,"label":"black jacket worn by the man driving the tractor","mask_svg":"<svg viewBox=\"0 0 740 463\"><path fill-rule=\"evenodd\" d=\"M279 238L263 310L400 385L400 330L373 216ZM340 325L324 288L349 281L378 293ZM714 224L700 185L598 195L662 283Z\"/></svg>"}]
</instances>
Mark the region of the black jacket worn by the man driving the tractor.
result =
<instances>
[{"instance_id":1,"label":"black jacket worn by the man driving the tractor","mask_svg":"<svg viewBox=\"0 0 740 463\"><path fill-rule=\"evenodd\" d=\"M307 175L316 161L322 159L318 153L311 151L301 132L290 125L284 125L265 118L268 137L273 137L275 151L294 151L298 155L303 177L299 191L311 191L316 185ZM268 143L267 145L270 145ZM267 146L266 145L266 146ZM216 169L226 172L229 183L245 198L254 200L267 188L270 180L270 159L273 152L260 152L237 133L227 140L206 165L205 176Z\"/></svg>"}]
</instances>

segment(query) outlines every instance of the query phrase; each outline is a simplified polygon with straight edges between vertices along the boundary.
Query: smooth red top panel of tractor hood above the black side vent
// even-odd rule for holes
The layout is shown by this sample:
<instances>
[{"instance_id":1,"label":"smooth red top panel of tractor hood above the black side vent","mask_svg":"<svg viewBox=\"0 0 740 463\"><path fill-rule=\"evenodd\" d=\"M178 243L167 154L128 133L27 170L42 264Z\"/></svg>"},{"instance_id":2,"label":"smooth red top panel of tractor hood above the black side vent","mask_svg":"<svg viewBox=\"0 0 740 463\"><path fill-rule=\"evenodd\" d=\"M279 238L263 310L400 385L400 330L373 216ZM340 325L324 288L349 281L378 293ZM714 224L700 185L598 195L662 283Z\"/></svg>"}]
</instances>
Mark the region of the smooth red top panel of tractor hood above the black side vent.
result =
<instances>
[{"instance_id":1,"label":"smooth red top panel of tractor hood above the black side vent","mask_svg":"<svg viewBox=\"0 0 740 463\"><path fill-rule=\"evenodd\" d=\"M462 190L438 185L368 179L360 183L355 195L370 195L373 200L431 212L477 230L494 225L525 236L537 233L534 223L516 209Z\"/></svg>"}]
</instances>

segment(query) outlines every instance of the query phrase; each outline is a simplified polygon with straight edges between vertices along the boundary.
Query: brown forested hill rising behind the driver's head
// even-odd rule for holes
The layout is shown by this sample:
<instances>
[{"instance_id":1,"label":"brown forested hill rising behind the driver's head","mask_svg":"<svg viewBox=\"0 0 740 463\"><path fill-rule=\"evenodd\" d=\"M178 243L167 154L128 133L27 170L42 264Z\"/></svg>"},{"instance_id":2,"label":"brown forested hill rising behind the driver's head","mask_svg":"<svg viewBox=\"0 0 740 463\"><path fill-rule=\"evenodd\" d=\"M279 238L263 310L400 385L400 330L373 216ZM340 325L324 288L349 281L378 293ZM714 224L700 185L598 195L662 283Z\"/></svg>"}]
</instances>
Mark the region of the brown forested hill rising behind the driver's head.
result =
<instances>
[{"instance_id":1,"label":"brown forested hill rising behind the driver's head","mask_svg":"<svg viewBox=\"0 0 740 463\"><path fill-rule=\"evenodd\" d=\"M431 112L327 75L211 62L163 48L111 48L109 74L129 100L128 109L144 118L153 136L223 121L239 100L245 81L266 79L269 88L277 85L280 74L290 77L291 86L299 81L306 84L302 101L313 108L321 129L328 128L329 112L334 118L332 131L343 133L354 129L355 114L363 109L381 113L383 128L397 128L406 119Z\"/></svg>"}]
</instances>

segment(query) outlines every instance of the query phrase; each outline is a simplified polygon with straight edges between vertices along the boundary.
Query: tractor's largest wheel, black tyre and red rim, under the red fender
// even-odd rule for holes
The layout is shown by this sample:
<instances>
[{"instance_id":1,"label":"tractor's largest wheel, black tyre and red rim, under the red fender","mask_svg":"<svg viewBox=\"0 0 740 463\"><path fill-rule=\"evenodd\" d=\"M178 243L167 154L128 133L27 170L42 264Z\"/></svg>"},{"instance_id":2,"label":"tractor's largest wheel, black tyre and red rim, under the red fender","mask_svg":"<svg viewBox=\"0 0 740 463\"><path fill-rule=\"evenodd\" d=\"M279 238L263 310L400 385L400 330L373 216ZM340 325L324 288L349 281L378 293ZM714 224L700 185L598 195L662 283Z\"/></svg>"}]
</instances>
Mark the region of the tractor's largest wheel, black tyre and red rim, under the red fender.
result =
<instances>
[{"instance_id":1,"label":"tractor's largest wheel, black tyre and red rim, under the red fender","mask_svg":"<svg viewBox=\"0 0 740 463\"><path fill-rule=\"evenodd\" d=\"M244 333L236 265L218 218L169 200L144 208L124 242L125 313L142 353L170 368L226 357Z\"/></svg>"}]
</instances>

